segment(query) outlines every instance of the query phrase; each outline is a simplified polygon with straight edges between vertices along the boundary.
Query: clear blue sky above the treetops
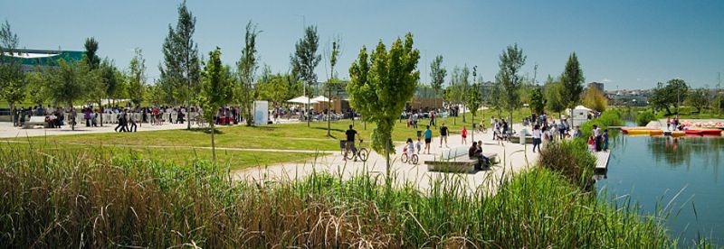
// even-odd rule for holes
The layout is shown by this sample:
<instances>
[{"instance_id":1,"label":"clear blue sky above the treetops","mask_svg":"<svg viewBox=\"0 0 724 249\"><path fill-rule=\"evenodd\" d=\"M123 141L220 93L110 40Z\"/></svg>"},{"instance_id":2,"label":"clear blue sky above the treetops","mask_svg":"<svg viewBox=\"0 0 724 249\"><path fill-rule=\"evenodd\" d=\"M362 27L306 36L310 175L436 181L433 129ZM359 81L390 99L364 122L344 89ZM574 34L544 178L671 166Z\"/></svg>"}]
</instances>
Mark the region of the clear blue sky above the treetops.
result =
<instances>
[{"instance_id":1,"label":"clear blue sky above the treetops","mask_svg":"<svg viewBox=\"0 0 724 249\"><path fill-rule=\"evenodd\" d=\"M176 24L178 1L0 1L0 18L10 22L28 49L82 50L86 37L100 42L101 57L126 69L133 48L147 59L149 78L158 75L167 25ZM538 81L559 75L576 51L586 82L605 88L652 88L683 78L693 87L717 84L724 73L724 1L194 1L195 42L205 56L222 48L225 63L238 60L244 25L262 33L262 63L274 72L289 69L289 56L304 23L315 24L320 42L342 39L338 73L362 45L389 44L414 33L422 53L424 82L437 54L443 65L478 65L485 80L498 70L498 56L518 43L528 56L524 72ZM207 56L206 56L207 57ZM326 62L326 61L325 61ZM326 79L329 69L317 70Z\"/></svg>"}]
</instances>

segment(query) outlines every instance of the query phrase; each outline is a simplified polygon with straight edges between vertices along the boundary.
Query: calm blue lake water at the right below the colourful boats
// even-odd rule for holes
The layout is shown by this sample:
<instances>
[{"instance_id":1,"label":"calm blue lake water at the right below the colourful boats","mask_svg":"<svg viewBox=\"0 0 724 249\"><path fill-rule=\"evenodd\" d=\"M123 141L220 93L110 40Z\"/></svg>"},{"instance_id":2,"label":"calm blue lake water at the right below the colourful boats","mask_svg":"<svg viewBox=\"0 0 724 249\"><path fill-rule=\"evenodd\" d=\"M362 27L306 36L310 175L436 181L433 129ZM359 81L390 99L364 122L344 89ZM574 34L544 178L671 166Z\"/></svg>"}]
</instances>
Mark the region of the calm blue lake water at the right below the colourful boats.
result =
<instances>
[{"instance_id":1,"label":"calm blue lake water at the right below the colourful boats","mask_svg":"<svg viewBox=\"0 0 724 249\"><path fill-rule=\"evenodd\" d=\"M619 134L610 143L597 190L605 189L607 198L629 195L649 215L672 201L666 225L673 236L724 244L724 139Z\"/></svg>"}]
</instances>

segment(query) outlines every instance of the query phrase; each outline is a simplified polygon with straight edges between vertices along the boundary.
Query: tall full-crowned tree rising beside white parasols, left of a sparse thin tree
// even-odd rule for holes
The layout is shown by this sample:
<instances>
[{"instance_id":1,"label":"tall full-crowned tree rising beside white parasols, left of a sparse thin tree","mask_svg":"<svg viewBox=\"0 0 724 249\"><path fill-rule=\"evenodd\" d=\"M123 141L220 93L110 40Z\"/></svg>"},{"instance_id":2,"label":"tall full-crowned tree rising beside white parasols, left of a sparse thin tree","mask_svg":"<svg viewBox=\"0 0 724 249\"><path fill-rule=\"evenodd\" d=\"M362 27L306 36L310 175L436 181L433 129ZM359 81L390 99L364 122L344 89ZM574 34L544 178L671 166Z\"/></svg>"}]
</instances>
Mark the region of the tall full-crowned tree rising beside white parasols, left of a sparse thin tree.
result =
<instances>
[{"instance_id":1,"label":"tall full-crowned tree rising beside white parasols, left of a sparse thin tree","mask_svg":"<svg viewBox=\"0 0 724 249\"><path fill-rule=\"evenodd\" d=\"M309 26L304 30L304 37L296 44L296 51L291 56L291 73L302 80L311 88L317 82L317 73L314 69L319 65L321 56L317 54L319 48L319 35L317 26ZM312 90L306 93L312 97ZM309 115L310 102L306 106L306 114ZM307 126L310 126L310 119L307 119Z\"/></svg>"}]
</instances>

